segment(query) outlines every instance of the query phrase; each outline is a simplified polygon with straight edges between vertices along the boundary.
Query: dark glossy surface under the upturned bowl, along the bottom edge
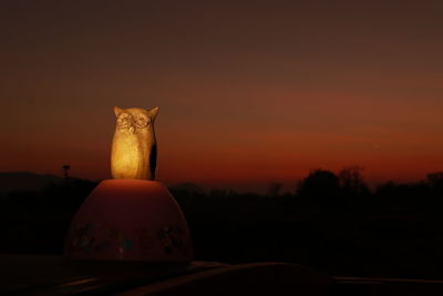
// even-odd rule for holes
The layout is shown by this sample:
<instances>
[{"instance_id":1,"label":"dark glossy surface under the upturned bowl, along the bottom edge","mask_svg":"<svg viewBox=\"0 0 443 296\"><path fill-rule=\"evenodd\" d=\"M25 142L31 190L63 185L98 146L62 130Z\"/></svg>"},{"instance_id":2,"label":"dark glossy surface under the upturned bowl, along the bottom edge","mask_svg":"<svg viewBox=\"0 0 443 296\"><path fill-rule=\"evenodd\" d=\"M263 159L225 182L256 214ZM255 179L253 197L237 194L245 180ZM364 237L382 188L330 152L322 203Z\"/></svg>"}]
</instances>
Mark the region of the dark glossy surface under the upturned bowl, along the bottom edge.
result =
<instances>
[{"instance_id":1,"label":"dark glossy surface under the upturned bowl, along the bottom edge","mask_svg":"<svg viewBox=\"0 0 443 296\"><path fill-rule=\"evenodd\" d=\"M443 295L443 280L329 277L286 263L73 262L0 255L2 295Z\"/></svg>"}]
</instances>

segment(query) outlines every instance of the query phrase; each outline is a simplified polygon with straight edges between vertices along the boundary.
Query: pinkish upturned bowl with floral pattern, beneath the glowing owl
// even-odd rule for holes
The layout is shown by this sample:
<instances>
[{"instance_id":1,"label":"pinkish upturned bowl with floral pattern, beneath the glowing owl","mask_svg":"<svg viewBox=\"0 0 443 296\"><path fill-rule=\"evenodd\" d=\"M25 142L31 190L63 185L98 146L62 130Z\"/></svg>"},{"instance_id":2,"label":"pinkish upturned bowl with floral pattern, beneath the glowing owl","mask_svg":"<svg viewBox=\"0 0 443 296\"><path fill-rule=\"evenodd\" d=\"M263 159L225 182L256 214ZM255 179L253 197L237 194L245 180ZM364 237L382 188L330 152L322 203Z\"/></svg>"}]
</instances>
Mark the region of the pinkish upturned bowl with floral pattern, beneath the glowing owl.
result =
<instances>
[{"instance_id":1,"label":"pinkish upturned bowl with floral pattern, beneath the glowing owl","mask_svg":"<svg viewBox=\"0 0 443 296\"><path fill-rule=\"evenodd\" d=\"M193 255L185 216L162 183L105 180L75 214L64 256L72 259L185 262Z\"/></svg>"}]
</instances>

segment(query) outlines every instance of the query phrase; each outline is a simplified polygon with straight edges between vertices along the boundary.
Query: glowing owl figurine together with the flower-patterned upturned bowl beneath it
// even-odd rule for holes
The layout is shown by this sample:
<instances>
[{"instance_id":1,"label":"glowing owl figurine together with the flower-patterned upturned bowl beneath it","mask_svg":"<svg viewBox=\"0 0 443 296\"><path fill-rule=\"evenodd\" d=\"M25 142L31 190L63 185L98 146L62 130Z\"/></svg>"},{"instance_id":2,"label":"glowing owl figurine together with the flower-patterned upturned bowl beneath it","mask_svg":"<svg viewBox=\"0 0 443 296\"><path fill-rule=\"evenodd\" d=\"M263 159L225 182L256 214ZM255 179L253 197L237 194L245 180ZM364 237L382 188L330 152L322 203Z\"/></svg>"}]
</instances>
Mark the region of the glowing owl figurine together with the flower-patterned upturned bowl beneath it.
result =
<instances>
[{"instance_id":1,"label":"glowing owl figurine together with the flower-patterned upturned bowl beneath it","mask_svg":"<svg viewBox=\"0 0 443 296\"><path fill-rule=\"evenodd\" d=\"M64 255L73 259L183 262L192 259L185 216L155 177L154 120L158 108L119 109L111 171L75 214Z\"/></svg>"}]
</instances>

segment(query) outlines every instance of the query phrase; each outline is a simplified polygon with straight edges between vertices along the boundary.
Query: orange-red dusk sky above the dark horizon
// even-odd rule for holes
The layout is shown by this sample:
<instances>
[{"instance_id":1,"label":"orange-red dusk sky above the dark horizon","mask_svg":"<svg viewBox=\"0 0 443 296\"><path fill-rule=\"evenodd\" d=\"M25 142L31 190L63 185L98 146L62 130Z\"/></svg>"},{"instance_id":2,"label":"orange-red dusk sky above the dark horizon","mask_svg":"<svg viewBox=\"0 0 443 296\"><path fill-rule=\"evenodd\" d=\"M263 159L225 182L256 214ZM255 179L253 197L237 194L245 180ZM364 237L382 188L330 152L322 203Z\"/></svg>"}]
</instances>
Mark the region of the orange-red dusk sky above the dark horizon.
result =
<instances>
[{"instance_id":1,"label":"orange-red dusk sky above the dark horizon","mask_svg":"<svg viewBox=\"0 0 443 296\"><path fill-rule=\"evenodd\" d=\"M158 180L443 170L443 1L0 3L0 172L110 177L113 106L159 106Z\"/></svg>"}]
</instances>

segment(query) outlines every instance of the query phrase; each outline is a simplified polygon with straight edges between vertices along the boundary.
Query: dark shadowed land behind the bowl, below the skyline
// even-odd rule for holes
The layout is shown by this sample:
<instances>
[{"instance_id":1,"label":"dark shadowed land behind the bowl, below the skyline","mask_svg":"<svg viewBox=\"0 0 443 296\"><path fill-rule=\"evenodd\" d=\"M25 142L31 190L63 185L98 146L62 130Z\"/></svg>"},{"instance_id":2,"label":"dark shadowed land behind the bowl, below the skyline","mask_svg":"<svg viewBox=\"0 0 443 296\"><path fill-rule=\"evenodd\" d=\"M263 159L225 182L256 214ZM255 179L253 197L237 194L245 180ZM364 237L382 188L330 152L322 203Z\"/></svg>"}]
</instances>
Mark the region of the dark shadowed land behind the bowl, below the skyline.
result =
<instances>
[{"instance_id":1,"label":"dark shadowed land behind the bowl, below the skyline","mask_svg":"<svg viewBox=\"0 0 443 296\"><path fill-rule=\"evenodd\" d=\"M72 216L95 185L72 180L0 196L0 253L60 255ZM395 287L400 278L402 289L405 279L422 280L410 283L418 289L420 283L440 288L443 195L419 185L391 184L354 195L322 191L321 196L173 193L198 261L296 263L347 287L373 289L380 278L393 278L384 286Z\"/></svg>"}]
</instances>

